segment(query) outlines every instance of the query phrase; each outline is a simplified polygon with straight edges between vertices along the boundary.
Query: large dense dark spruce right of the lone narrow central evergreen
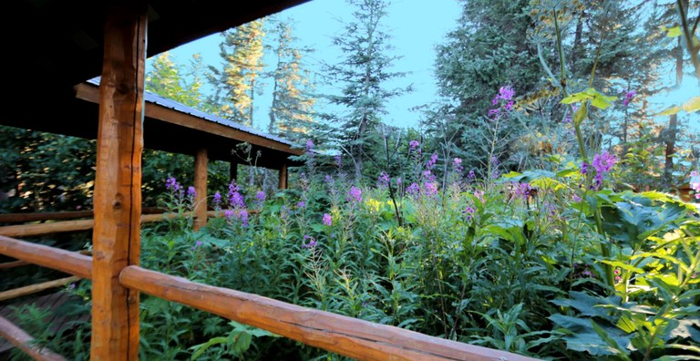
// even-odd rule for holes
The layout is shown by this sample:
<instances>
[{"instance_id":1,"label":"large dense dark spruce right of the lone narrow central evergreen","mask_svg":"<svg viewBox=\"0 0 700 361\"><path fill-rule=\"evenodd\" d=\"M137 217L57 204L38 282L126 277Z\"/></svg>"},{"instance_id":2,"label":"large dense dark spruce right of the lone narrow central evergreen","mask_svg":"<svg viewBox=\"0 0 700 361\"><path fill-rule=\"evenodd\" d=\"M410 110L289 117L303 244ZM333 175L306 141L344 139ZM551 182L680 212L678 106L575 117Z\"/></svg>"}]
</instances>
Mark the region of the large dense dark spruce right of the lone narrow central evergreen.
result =
<instances>
[{"instance_id":1,"label":"large dense dark spruce right of the lone narrow central evergreen","mask_svg":"<svg viewBox=\"0 0 700 361\"><path fill-rule=\"evenodd\" d=\"M487 141L498 138L499 147L494 151L501 154L516 136L513 129L521 128L520 124L504 124L488 129L490 123L482 121L499 88L510 86L521 95L540 84L540 64L527 38L532 24L529 3L462 0L457 28L436 48L440 99L426 113L424 125L434 139L441 139L443 153L456 146L454 151L467 160L467 168L490 161L489 152L482 151Z\"/></svg>"}]
</instances>

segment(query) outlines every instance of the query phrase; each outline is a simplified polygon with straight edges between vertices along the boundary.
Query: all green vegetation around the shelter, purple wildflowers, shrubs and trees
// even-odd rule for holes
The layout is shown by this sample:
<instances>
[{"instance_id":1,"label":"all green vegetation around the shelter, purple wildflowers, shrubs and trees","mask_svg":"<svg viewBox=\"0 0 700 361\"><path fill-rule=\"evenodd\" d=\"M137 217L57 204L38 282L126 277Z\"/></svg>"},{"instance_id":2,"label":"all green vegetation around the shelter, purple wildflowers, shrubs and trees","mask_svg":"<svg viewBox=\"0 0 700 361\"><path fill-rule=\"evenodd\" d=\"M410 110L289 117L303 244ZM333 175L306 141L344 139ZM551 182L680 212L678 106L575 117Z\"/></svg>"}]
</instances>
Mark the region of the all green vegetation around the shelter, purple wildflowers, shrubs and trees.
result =
<instances>
[{"instance_id":1,"label":"all green vegetation around the shelter, purple wildflowers, shrubs and trees","mask_svg":"<svg viewBox=\"0 0 700 361\"><path fill-rule=\"evenodd\" d=\"M336 39L345 58L327 65L341 94L310 93L306 50L278 19L227 32L221 68L196 58L186 77L167 55L155 60L151 91L257 127L256 87L270 77L267 130L306 154L290 191L272 191L254 168L228 184L213 165L209 201L221 217L200 232L186 216L191 160L145 154L146 198L183 217L143 231L142 265L523 355L700 359L690 127L700 91L650 106L669 87L664 71L671 88L700 84L697 2L460 4L419 129L383 123L386 100L410 90L384 88L402 77L390 71L400 59L381 26L384 1L351 2L355 20ZM265 21L279 59L267 75ZM222 86L205 96L204 79ZM317 99L343 111L314 110ZM89 205L91 144L17 129L0 137L0 211ZM33 161L56 152L79 156ZM77 312L89 310L89 283L67 291L85 301ZM142 309L143 359L336 357L156 298ZM50 335L38 314L23 314L27 330L88 357L88 324Z\"/></svg>"}]
</instances>

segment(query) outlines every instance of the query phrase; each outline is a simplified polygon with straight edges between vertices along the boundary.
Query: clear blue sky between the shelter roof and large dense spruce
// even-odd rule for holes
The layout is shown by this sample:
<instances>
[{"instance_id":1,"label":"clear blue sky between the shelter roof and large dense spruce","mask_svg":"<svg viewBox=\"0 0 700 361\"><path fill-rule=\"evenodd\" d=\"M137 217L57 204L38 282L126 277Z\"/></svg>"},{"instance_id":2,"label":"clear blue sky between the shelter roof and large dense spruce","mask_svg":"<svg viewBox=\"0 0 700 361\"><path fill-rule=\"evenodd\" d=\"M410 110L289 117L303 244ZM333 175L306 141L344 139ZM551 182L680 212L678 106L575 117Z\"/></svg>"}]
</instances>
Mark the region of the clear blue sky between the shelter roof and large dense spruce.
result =
<instances>
[{"instance_id":1,"label":"clear blue sky between the shelter roof and large dense spruce","mask_svg":"<svg viewBox=\"0 0 700 361\"><path fill-rule=\"evenodd\" d=\"M306 64L310 69L320 71L322 62L339 61L341 53L333 46L333 36L342 34L341 21L350 21L352 11L345 0L313 0L287 9L279 15L293 21L294 35L299 38L300 46L311 46L316 50L306 59ZM412 84L414 91L392 99L386 105L388 114L384 121L392 125L417 127L419 114L409 108L430 103L436 97L433 49L457 25L459 5L456 0L395 0L387 13L385 30L392 35L396 56L402 57L396 61L392 70L408 74L387 84L386 88ZM170 55L178 64L185 64L193 54L199 53L205 63L218 66L221 63L220 43L221 35L215 34L173 49ZM339 92L332 87L317 90ZM259 115L255 117L256 126L266 129L269 96L263 95L259 99L261 102L256 101L258 104L255 109Z\"/></svg>"}]
</instances>

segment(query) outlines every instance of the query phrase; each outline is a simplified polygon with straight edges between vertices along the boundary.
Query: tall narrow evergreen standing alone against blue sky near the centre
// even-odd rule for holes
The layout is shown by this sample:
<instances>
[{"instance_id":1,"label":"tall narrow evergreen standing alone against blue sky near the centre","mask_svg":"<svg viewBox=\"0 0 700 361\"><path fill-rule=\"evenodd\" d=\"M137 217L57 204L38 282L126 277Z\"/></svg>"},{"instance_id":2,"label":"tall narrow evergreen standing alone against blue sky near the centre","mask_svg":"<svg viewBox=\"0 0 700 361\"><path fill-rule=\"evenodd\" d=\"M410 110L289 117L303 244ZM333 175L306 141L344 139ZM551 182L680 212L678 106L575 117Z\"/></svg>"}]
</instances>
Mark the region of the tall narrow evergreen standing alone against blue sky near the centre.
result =
<instances>
[{"instance_id":1,"label":"tall narrow evergreen standing alone against blue sky near the centre","mask_svg":"<svg viewBox=\"0 0 700 361\"><path fill-rule=\"evenodd\" d=\"M345 114L333 119L340 122L336 133L338 143L354 164L355 181L362 180L365 160L370 159L373 134L381 117L386 113L386 101L406 92L407 88L384 88L386 81L402 77L403 73L391 72L396 57L390 56L390 36L383 30L386 18L385 0L349 0L355 7L353 21L345 25L341 36L334 43L344 53L343 60L326 66L326 73L335 76L335 82L343 84L340 95L330 96L333 104L343 106Z\"/></svg>"}]
</instances>

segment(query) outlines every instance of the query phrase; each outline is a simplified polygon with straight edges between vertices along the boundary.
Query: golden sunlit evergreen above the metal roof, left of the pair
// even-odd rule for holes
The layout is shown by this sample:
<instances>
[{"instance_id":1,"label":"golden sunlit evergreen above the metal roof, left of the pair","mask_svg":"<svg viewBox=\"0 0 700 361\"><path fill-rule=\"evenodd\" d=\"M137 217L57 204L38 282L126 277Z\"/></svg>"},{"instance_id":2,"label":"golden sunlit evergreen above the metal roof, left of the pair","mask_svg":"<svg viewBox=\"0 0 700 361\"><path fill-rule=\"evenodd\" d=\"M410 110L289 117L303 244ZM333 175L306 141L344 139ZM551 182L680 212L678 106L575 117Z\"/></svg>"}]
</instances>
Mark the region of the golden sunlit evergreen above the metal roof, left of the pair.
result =
<instances>
[{"instance_id":1,"label":"golden sunlit evergreen above the metal roof, left of the pair","mask_svg":"<svg viewBox=\"0 0 700 361\"><path fill-rule=\"evenodd\" d=\"M263 19L258 19L223 33L220 45L221 69L210 67L216 93L211 99L219 115L248 126L254 126L253 100L260 88L265 36Z\"/></svg>"}]
</instances>

